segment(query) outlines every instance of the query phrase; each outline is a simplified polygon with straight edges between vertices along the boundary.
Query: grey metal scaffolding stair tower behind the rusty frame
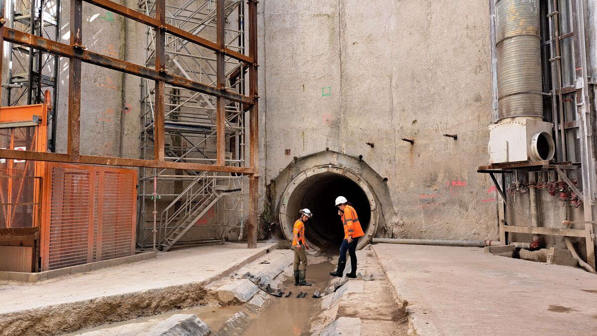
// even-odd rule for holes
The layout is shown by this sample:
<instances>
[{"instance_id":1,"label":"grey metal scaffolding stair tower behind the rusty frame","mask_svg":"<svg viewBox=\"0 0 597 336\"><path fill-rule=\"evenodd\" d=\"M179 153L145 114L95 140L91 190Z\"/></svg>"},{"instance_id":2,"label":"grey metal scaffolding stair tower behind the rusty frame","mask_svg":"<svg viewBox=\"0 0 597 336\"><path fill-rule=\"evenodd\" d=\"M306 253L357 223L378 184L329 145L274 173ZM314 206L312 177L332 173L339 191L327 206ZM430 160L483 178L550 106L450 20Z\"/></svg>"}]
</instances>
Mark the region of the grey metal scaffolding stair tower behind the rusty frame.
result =
<instances>
[{"instance_id":1,"label":"grey metal scaffolding stair tower behind the rusty frame","mask_svg":"<svg viewBox=\"0 0 597 336\"><path fill-rule=\"evenodd\" d=\"M138 10L147 16L154 16L155 1L140 0ZM214 0L186 0L177 5L166 4L165 18L169 25L209 39L218 34L217 10L217 2ZM224 45L241 54L245 53L244 17L244 2L223 1ZM146 30L144 65L147 67L155 66L155 35L154 29ZM245 94L247 65L244 62L232 57L219 57L217 52L173 35L166 35L164 46L164 61L168 72L208 85L223 84L227 90ZM224 69L223 78L218 78L218 62L222 63ZM152 157L155 148L155 82L143 79L141 87L140 152L141 158L147 159ZM222 102L214 96L176 85L165 85L164 89L165 160L217 163L217 105L223 103L226 148L224 164L245 166L245 111L241 103L232 100ZM191 241L221 241L233 228L239 230L238 239L241 239L244 226L244 182L242 176L236 173L142 168L138 230L140 248L158 246L167 251L175 243L189 241L183 236L198 225L199 219L217 203L224 204L220 220L215 224L199 224L202 227L213 226L210 236L202 236L200 240L195 237ZM234 213L240 220L239 225L230 225ZM227 220L223 217L227 217Z\"/></svg>"}]
</instances>

